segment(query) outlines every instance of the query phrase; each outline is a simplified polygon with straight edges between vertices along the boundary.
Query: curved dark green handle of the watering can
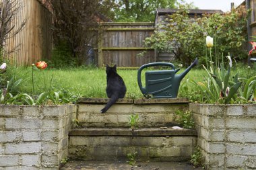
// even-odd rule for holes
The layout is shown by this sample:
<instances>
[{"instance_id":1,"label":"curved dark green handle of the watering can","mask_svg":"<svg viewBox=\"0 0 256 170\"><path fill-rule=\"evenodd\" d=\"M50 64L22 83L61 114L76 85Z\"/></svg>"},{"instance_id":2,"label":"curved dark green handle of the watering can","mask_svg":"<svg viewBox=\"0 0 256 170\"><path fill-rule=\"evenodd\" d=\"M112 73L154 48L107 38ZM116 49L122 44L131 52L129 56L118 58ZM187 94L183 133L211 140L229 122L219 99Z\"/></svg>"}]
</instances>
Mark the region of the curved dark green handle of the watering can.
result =
<instances>
[{"instance_id":1,"label":"curved dark green handle of the watering can","mask_svg":"<svg viewBox=\"0 0 256 170\"><path fill-rule=\"evenodd\" d=\"M169 66L172 67L173 70L175 70L174 65L172 65L172 63L169 62L152 62L146 65L142 65L137 73L137 81L138 81L138 85L139 85L139 89L141 90L141 92L143 93L143 95L146 97L146 88L142 87L142 83L141 83L141 71L147 67L153 67L153 66ZM178 70L179 71L179 70Z\"/></svg>"}]
</instances>

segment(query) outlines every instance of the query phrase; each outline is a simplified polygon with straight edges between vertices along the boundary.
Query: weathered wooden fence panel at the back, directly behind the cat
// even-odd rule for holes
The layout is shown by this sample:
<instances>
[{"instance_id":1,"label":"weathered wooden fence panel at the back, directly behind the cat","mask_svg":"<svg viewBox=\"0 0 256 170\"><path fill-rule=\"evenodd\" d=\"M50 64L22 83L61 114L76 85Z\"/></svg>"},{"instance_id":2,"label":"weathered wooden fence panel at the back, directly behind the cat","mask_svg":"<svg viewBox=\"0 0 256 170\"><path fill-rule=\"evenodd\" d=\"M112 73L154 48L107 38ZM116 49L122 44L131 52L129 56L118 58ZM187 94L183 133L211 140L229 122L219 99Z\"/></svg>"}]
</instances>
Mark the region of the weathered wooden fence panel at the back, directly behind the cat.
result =
<instances>
[{"instance_id":1,"label":"weathered wooden fence panel at the back, directly behind the cat","mask_svg":"<svg viewBox=\"0 0 256 170\"><path fill-rule=\"evenodd\" d=\"M98 66L140 67L156 61L154 49L143 47L143 40L154 32L154 23L104 23L98 42ZM137 54L146 51L142 57Z\"/></svg>"}]
</instances>

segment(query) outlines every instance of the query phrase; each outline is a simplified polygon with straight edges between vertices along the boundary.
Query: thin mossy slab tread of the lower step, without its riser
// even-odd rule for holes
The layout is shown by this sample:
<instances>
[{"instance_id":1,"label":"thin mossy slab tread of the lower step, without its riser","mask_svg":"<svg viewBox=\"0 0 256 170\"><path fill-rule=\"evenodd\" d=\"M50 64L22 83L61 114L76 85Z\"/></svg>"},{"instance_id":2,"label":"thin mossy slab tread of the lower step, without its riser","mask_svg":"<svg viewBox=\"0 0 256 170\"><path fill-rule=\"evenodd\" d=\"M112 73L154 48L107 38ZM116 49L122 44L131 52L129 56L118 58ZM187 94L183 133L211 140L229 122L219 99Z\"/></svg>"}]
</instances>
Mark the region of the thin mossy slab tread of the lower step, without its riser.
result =
<instances>
[{"instance_id":1,"label":"thin mossy slab tread of the lower step, without its riser","mask_svg":"<svg viewBox=\"0 0 256 170\"><path fill-rule=\"evenodd\" d=\"M79 128L69 132L69 136L131 136L129 128ZM172 127L139 128L133 136L197 136L192 129L173 129Z\"/></svg>"}]
</instances>

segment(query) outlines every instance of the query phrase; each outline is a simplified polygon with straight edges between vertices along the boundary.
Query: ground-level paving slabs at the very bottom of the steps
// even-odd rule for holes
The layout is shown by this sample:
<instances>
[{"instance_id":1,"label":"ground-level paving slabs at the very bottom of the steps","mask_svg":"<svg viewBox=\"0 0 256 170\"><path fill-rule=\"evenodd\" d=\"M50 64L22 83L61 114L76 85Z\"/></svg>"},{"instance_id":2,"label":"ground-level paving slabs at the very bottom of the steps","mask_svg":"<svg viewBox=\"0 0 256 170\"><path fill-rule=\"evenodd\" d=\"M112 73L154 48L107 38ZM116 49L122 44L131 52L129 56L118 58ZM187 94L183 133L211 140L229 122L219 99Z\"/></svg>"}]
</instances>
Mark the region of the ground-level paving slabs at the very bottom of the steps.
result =
<instances>
[{"instance_id":1,"label":"ground-level paving slabs at the very bottom of the steps","mask_svg":"<svg viewBox=\"0 0 256 170\"><path fill-rule=\"evenodd\" d=\"M60 170L129 170L131 166L126 161L70 161ZM189 162L138 162L134 170L203 170L194 168Z\"/></svg>"}]
</instances>

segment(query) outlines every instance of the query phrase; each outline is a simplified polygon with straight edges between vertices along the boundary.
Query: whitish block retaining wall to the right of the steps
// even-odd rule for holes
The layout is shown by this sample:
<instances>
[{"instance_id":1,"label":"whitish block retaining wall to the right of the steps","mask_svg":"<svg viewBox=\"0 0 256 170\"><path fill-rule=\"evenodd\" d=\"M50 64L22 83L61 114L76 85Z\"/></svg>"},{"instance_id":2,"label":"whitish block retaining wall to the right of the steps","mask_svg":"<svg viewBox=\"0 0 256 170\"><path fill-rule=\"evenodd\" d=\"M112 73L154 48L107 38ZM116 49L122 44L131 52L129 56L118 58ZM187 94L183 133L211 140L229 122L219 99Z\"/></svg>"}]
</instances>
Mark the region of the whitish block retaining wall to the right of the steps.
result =
<instances>
[{"instance_id":1,"label":"whitish block retaining wall to the right of the steps","mask_svg":"<svg viewBox=\"0 0 256 170\"><path fill-rule=\"evenodd\" d=\"M206 169L256 169L256 104L189 104Z\"/></svg>"}]
</instances>

